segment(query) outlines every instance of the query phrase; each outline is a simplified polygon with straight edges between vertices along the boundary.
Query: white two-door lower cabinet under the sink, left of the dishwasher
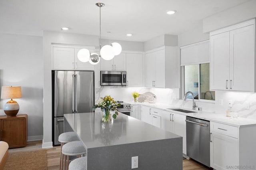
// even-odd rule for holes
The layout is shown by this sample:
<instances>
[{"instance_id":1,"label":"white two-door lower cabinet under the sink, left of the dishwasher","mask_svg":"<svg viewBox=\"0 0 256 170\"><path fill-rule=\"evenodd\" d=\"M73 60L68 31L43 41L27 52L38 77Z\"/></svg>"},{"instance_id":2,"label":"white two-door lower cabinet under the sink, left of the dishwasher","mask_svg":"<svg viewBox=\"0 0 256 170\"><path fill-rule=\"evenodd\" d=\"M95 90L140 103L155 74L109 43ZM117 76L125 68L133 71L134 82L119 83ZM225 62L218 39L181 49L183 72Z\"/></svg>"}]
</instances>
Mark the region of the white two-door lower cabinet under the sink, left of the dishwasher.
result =
<instances>
[{"instance_id":1,"label":"white two-door lower cabinet under the sink, left of the dishwasher","mask_svg":"<svg viewBox=\"0 0 256 170\"><path fill-rule=\"evenodd\" d=\"M182 136L182 152L187 154L186 147L186 116L168 111L162 111L163 129Z\"/></svg>"}]
</instances>

